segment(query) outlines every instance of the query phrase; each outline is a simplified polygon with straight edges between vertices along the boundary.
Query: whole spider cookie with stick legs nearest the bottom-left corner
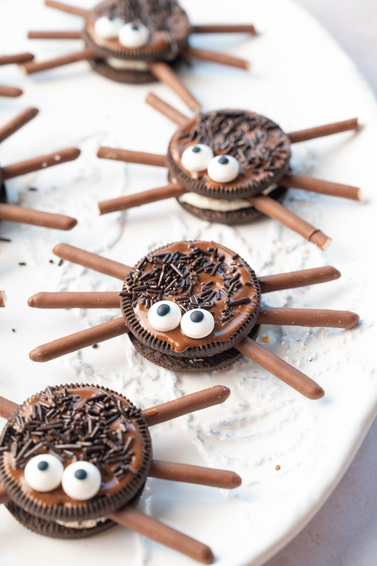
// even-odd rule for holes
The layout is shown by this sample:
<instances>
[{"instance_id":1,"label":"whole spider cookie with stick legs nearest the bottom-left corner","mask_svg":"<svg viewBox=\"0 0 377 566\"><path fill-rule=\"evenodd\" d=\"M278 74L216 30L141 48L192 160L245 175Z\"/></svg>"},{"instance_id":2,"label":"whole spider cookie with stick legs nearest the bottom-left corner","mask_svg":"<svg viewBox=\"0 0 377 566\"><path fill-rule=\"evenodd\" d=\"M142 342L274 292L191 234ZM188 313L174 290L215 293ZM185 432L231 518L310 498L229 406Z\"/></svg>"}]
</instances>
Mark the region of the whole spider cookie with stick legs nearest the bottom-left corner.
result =
<instances>
[{"instance_id":1,"label":"whole spider cookie with stick legs nearest the bottom-left corner","mask_svg":"<svg viewBox=\"0 0 377 566\"><path fill-rule=\"evenodd\" d=\"M147 476L233 489L232 471L152 460L148 427L223 403L216 385L141 410L98 385L47 387L18 406L0 397L0 504L26 528L83 538L121 525L204 564L211 549L137 511Z\"/></svg>"}]
</instances>

